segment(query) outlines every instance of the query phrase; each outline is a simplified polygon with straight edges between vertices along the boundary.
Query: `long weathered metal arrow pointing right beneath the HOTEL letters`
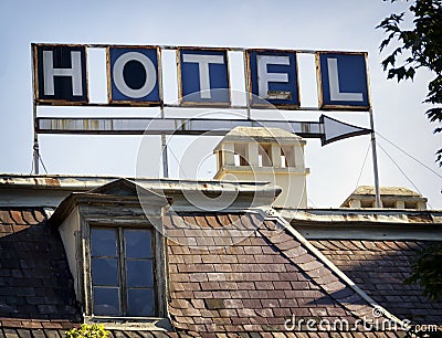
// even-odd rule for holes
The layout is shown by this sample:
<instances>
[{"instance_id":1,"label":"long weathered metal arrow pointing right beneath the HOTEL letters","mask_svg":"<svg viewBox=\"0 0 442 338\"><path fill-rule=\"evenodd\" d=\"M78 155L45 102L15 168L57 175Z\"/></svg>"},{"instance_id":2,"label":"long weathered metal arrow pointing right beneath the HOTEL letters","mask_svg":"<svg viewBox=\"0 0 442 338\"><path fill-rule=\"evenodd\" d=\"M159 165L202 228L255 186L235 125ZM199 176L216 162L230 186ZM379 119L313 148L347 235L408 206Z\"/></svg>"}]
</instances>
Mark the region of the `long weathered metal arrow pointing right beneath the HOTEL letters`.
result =
<instances>
[{"instance_id":1,"label":"long weathered metal arrow pointing right beneath the HOTEL letters","mask_svg":"<svg viewBox=\"0 0 442 338\"><path fill-rule=\"evenodd\" d=\"M320 138L323 146L370 134L371 129L322 115L319 122L203 119L203 118L52 118L38 117L38 134L88 135L210 135L224 136L234 127L282 128L304 138Z\"/></svg>"}]
</instances>

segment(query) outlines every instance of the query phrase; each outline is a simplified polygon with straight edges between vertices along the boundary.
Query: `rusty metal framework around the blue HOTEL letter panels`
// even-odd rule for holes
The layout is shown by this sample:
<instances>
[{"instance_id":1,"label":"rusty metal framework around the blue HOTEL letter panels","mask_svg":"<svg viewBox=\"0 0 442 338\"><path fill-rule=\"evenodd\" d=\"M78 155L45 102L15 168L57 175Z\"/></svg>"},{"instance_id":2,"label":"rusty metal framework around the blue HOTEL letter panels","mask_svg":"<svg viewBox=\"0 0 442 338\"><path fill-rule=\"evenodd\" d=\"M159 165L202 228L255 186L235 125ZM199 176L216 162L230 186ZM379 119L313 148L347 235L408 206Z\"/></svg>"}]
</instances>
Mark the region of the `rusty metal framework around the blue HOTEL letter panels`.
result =
<instances>
[{"instance_id":1,"label":"rusty metal framework around the blue HOTEL letter panels","mask_svg":"<svg viewBox=\"0 0 442 338\"><path fill-rule=\"evenodd\" d=\"M113 45L113 44L56 44L56 43L32 43L32 70L33 70L33 94L34 94L34 103L36 105L60 105L60 106L172 106L167 105L164 103L164 93L162 93L162 64L161 64L161 51L162 50L175 50L176 57L177 57L177 80L178 80L178 98L179 105L185 107L232 107L231 102L231 92L230 92L230 67L229 67L229 53L228 52L242 52L244 54L244 77L245 77L245 86L249 91L248 97L248 107L253 109L262 109L269 108L270 105L261 105L261 104L252 104L251 101L251 76L250 76L250 52L272 52L272 53L293 53L296 60L296 86L297 86L297 95L299 98L299 78L297 76L298 73L298 54L314 54L315 62L316 62L316 82L317 82L317 92L318 92L318 104L317 108L312 107L303 107L301 105L284 105L277 104L273 105L278 109L290 109L290 110L366 110L368 112L371 107L371 93L370 93L370 80L369 80L369 70L368 70L368 53L367 52L337 52L337 51L312 51L312 50L274 50L274 49L241 49L241 47L197 47L197 46L172 46L172 45ZM85 50L85 67L86 67L86 101L83 102L73 102L73 101L63 101L63 99L46 99L39 97L39 78L38 78L38 57L36 57L36 49L40 46L75 46L75 47L83 47ZM118 101L115 102L112 98L112 91L109 88L112 80L109 78L109 60L108 60L108 49L109 47L120 47L120 49L157 49L157 57L158 57L158 68L157 68L157 76L158 76L158 86L159 86L159 102L150 102L150 103L143 103L143 102L134 102L134 101ZM87 76L87 49L105 49L106 50L106 75L107 75L107 103L104 104L95 104L90 103L88 97L88 76ZM201 103L201 102L183 102L182 101L182 81L181 81L181 62L180 62L180 51L181 50L191 50L191 51L221 51L225 55L225 66L227 66L227 80L228 80L228 92L229 92L229 103ZM352 106L352 105L324 105L323 103L323 91L322 91L322 77L320 77L320 63L319 63L319 55L320 54L343 54L343 55L364 55L365 63L366 63L366 75L367 75L367 88L368 88L368 106ZM173 105L177 106L177 105Z\"/></svg>"}]
</instances>

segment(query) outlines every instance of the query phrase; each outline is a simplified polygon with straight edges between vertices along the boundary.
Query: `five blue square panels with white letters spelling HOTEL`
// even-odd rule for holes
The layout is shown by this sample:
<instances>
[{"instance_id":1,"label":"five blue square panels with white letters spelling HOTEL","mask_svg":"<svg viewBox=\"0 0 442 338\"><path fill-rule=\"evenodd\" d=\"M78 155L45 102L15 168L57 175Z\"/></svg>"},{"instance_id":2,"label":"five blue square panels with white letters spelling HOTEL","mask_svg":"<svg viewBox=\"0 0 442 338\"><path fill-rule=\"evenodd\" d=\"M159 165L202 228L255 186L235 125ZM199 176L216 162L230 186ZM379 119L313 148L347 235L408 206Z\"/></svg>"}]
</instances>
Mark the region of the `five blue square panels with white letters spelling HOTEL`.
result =
<instances>
[{"instance_id":1,"label":"five blue square panels with white letters spelling HOTEL","mask_svg":"<svg viewBox=\"0 0 442 338\"><path fill-rule=\"evenodd\" d=\"M88 45L33 44L38 105L88 105ZM161 106L161 47L107 45L108 105ZM182 106L231 106L230 49L176 47ZM302 109L297 51L242 50L250 108ZM315 52L319 109L369 110L367 54Z\"/></svg>"}]
</instances>

